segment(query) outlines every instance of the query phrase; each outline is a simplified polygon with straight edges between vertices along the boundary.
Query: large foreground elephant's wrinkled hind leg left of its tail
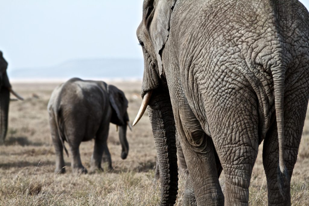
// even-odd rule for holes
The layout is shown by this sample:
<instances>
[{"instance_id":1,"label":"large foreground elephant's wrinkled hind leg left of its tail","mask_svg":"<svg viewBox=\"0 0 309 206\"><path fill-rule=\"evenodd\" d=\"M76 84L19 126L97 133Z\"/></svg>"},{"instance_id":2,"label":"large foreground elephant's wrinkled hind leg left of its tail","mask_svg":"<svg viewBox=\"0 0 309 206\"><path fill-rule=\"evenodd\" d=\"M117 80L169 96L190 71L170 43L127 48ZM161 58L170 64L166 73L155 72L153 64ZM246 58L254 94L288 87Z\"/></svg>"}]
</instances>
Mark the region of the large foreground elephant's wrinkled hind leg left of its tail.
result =
<instances>
[{"instance_id":1,"label":"large foreground elephant's wrinkled hind leg left of its tail","mask_svg":"<svg viewBox=\"0 0 309 206\"><path fill-rule=\"evenodd\" d=\"M217 97L208 105L210 131L225 174L225 205L248 205L252 168L258 152L256 95L248 91L247 98L243 98L244 92L222 92L222 99ZM226 102L226 97L230 100L224 105L221 101ZM217 168L216 171L219 174Z\"/></svg>"}]
</instances>

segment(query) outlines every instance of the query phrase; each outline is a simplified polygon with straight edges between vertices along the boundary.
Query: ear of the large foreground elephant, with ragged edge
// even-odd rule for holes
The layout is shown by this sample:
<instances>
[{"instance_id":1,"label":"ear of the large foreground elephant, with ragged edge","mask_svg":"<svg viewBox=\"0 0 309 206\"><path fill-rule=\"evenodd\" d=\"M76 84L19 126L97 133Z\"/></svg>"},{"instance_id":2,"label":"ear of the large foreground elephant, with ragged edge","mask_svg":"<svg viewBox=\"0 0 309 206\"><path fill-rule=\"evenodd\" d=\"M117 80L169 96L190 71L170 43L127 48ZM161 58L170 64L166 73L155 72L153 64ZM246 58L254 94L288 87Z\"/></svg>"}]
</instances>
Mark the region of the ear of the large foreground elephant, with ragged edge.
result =
<instances>
[{"instance_id":1,"label":"ear of the large foreground elephant, with ragged edge","mask_svg":"<svg viewBox=\"0 0 309 206\"><path fill-rule=\"evenodd\" d=\"M148 0L144 4L145 27L154 44L160 76L163 73L162 50L169 36L171 14L175 4L176 0Z\"/></svg>"}]
</instances>

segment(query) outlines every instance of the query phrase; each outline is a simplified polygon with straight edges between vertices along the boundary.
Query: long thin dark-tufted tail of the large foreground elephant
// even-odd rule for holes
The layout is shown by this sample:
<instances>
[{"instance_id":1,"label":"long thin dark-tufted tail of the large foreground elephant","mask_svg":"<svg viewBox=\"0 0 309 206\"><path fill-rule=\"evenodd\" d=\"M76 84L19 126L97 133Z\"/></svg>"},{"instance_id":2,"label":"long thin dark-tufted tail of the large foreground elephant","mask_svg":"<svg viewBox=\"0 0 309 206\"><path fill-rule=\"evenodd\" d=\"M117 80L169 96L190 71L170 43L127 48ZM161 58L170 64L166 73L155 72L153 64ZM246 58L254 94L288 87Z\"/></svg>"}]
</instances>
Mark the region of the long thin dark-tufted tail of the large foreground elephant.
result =
<instances>
[{"instance_id":1,"label":"long thin dark-tufted tail of the large foreground elephant","mask_svg":"<svg viewBox=\"0 0 309 206\"><path fill-rule=\"evenodd\" d=\"M284 164L284 90L285 90L285 67L274 66L271 68L274 84L274 99L277 120L278 144L279 144L279 167L278 181L279 191L285 197L284 183L289 179L289 175Z\"/></svg>"}]
</instances>

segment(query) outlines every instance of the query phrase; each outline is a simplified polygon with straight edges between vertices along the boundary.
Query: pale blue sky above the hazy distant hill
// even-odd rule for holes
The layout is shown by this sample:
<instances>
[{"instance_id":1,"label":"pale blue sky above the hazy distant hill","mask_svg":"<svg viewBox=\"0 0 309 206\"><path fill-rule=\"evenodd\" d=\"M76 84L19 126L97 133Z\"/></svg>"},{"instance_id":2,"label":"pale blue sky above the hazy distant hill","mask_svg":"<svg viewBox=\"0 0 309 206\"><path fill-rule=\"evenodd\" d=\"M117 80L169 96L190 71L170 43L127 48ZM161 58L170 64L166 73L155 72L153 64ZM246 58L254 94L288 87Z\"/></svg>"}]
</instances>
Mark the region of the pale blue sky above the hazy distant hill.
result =
<instances>
[{"instance_id":1,"label":"pale blue sky above the hazy distant hill","mask_svg":"<svg viewBox=\"0 0 309 206\"><path fill-rule=\"evenodd\" d=\"M301 0L309 8L309 0ZM138 58L142 0L2 0L0 50L9 69L78 58ZM142 68L141 68L142 69Z\"/></svg>"}]
</instances>

